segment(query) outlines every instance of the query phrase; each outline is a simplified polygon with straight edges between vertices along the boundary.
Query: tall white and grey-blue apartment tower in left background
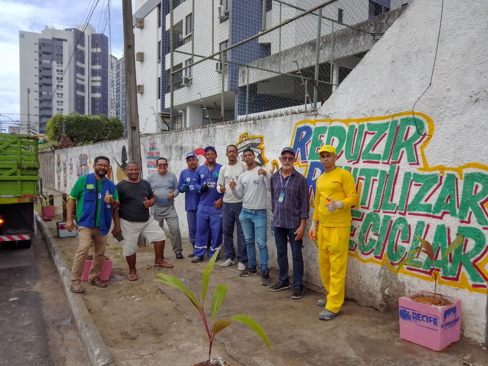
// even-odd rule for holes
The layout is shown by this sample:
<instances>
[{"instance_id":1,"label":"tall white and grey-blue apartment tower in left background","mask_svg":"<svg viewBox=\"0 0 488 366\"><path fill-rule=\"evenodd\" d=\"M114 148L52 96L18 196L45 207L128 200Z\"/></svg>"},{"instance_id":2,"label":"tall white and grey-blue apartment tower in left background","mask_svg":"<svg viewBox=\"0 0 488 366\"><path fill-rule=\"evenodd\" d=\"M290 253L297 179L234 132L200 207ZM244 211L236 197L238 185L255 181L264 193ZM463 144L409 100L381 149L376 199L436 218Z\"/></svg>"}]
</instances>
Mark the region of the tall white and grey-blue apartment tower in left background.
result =
<instances>
[{"instance_id":1,"label":"tall white and grey-blue apartment tower in left background","mask_svg":"<svg viewBox=\"0 0 488 366\"><path fill-rule=\"evenodd\" d=\"M27 114L30 127L39 134L59 113L115 115L110 100L115 62L108 38L90 24L65 29L46 26L40 33L19 31L19 46L23 128Z\"/></svg>"}]
</instances>

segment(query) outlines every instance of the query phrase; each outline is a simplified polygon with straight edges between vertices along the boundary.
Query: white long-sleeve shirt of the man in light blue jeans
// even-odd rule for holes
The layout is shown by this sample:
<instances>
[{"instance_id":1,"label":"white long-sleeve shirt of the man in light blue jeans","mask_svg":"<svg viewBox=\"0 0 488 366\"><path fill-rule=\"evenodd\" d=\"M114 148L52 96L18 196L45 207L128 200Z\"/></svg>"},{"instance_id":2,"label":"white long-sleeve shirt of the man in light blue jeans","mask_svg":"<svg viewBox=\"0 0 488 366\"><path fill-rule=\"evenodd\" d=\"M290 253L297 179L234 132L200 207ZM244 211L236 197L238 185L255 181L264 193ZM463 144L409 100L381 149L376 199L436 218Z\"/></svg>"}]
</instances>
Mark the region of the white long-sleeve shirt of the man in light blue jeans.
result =
<instances>
[{"instance_id":1,"label":"white long-sleeve shirt of the man in light blue jeans","mask_svg":"<svg viewBox=\"0 0 488 366\"><path fill-rule=\"evenodd\" d=\"M239 199L243 199L243 208L248 210L262 210L266 208L266 191L271 189L269 178L271 173L266 171L266 176L258 175L260 166L252 170L246 170L239 176L239 181L232 193Z\"/></svg>"}]
</instances>

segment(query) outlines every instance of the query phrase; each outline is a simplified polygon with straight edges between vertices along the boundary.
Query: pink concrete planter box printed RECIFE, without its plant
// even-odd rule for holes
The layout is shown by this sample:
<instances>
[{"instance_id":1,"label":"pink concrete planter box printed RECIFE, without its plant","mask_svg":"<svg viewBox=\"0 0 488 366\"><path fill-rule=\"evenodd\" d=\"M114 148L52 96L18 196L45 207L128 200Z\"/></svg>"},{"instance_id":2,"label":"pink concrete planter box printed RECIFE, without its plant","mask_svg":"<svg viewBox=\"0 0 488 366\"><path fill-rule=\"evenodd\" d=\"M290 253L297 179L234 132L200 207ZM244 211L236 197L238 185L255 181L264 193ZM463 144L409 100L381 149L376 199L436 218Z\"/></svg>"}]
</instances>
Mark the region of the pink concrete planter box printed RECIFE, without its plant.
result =
<instances>
[{"instance_id":1,"label":"pink concrete planter box printed RECIFE, without its plant","mask_svg":"<svg viewBox=\"0 0 488 366\"><path fill-rule=\"evenodd\" d=\"M418 295L433 296L434 294L421 291L398 299L400 338L434 351L439 351L452 342L459 341L461 300L442 295L452 305L436 306L411 300Z\"/></svg>"}]
</instances>

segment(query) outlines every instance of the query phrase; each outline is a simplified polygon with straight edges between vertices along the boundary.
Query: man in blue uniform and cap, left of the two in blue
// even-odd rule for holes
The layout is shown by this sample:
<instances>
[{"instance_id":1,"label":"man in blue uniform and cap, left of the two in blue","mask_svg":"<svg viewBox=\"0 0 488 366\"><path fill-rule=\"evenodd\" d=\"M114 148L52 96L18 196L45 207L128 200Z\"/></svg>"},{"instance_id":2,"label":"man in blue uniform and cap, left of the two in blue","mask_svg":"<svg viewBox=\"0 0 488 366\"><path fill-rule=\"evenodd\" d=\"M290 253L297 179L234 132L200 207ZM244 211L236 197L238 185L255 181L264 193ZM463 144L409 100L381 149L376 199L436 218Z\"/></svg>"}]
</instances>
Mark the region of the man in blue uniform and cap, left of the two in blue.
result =
<instances>
[{"instance_id":1,"label":"man in blue uniform and cap, left of the two in blue","mask_svg":"<svg viewBox=\"0 0 488 366\"><path fill-rule=\"evenodd\" d=\"M197 174L198 159L194 152L186 154L186 164L188 167L180 173L178 190L184 193L184 209L186 211L186 221L188 222L188 234L190 244L195 246L195 236L197 233L197 209L200 202L200 192L193 187L193 182ZM193 253L188 254L193 257Z\"/></svg>"}]
</instances>

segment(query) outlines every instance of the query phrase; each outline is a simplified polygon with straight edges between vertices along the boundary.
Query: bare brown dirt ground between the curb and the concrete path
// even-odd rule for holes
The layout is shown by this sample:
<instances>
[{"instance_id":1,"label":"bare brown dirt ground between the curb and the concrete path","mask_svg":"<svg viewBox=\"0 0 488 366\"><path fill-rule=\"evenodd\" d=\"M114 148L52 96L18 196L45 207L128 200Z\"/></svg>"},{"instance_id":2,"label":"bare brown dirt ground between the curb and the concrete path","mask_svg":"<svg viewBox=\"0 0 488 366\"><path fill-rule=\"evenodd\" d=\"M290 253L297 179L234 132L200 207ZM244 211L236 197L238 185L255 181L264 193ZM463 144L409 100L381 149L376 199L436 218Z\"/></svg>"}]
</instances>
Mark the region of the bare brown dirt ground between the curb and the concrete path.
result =
<instances>
[{"instance_id":1,"label":"bare brown dirt ground between the curb and the concrete path","mask_svg":"<svg viewBox=\"0 0 488 366\"><path fill-rule=\"evenodd\" d=\"M78 238L56 238L56 241L71 264ZM129 282L122 245L111 237L107 243L105 255L113 261L110 281L106 288L82 282L86 288L82 298L116 365L186 366L203 362L208 355L208 338L203 327L186 320L152 281L156 273L171 273L172 269L154 268L154 249L147 244L137 250L139 279ZM189 244L184 246L188 251ZM164 254L169 257L168 262L178 264L169 243ZM212 356L222 357L231 366L242 365L219 342L214 342Z\"/></svg>"}]
</instances>

